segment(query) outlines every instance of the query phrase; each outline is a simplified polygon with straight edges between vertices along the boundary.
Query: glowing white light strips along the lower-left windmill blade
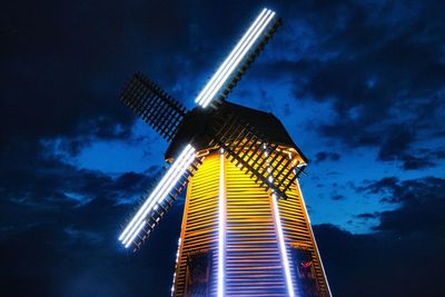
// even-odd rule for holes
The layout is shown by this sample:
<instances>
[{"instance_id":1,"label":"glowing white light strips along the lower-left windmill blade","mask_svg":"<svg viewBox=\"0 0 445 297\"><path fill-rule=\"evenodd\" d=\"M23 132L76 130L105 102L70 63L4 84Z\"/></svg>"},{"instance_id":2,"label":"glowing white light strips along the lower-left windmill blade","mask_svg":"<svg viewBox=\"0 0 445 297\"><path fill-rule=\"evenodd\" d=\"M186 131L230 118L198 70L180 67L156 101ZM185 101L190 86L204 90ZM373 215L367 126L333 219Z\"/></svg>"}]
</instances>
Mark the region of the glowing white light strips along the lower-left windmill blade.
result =
<instances>
[{"instance_id":1,"label":"glowing white light strips along the lower-left windmill blade","mask_svg":"<svg viewBox=\"0 0 445 297\"><path fill-rule=\"evenodd\" d=\"M181 175L190 167L195 160L196 150L192 146L187 145L182 150L176 161L167 170L167 174L156 186L154 191L140 207L138 212L131 219L131 221L123 229L122 234L119 236L119 240L128 248L132 240L138 236L140 230L145 226L146 216L152 210L152 208L161 202L167 195L171 191L176 182L178 182Z\"/></svg>"}]
</instances>

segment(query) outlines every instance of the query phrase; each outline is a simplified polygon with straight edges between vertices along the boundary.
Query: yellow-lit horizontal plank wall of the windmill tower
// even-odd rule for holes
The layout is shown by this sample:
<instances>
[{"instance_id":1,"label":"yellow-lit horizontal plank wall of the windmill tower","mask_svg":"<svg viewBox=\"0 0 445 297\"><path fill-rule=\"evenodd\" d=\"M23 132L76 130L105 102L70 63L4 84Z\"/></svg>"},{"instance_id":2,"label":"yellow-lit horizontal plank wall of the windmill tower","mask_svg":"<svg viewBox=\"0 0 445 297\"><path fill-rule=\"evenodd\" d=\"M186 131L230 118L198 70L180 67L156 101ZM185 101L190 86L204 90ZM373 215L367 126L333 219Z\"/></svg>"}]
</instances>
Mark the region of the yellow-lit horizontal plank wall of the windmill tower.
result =
<instances>
[{"instance_id":1,"label":"yellow-lit horizontal plank wall of the windmill tower","mask_svg":"<svg viewBox=\"0 0 445 297\"><path fill-rule=\"evenodd\" d=\"M224 296L288 296L274 221L273 197L226 158L221 162L219 152L206 156L188 186L174 296L187 296L187 284L192 277L187 273L187 263L192 255L199 253L208 253L211 257L208 295L217 296L218 202L221 174L226 210ZM291 248L310 253L318 295L329 296L297 182L288 191L288 199L279 200L278 208L295 296L300 296L300 291L298 271L290 260Z\"/></svg>"}]
</instances>

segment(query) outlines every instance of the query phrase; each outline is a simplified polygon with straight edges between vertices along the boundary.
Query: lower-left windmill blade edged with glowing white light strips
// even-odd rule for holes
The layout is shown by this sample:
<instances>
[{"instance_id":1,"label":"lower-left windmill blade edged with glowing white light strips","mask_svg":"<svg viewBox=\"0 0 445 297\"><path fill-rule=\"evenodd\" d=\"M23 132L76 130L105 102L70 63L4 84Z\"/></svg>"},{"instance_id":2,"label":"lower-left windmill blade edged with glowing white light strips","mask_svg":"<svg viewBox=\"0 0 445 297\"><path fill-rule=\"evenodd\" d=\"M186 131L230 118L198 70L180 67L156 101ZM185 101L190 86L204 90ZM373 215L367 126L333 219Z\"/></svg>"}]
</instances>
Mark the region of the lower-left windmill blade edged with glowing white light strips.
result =
<instances>
[{"instance_id":1,"label":"lower-left windmill blade edged with glowing white light strips","mask_svg":"<svg viewBox=\"0 0 445 297\"><path fill-rule=\"evenodd\" d=\"M201 160L196 156L195 148L188 145L122 230L119 240L126 248L131 245L135 251L140 248L200 164Z\"/></svg>"}]
</instances>

